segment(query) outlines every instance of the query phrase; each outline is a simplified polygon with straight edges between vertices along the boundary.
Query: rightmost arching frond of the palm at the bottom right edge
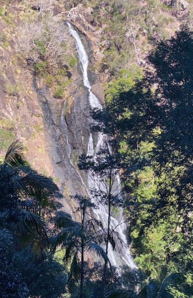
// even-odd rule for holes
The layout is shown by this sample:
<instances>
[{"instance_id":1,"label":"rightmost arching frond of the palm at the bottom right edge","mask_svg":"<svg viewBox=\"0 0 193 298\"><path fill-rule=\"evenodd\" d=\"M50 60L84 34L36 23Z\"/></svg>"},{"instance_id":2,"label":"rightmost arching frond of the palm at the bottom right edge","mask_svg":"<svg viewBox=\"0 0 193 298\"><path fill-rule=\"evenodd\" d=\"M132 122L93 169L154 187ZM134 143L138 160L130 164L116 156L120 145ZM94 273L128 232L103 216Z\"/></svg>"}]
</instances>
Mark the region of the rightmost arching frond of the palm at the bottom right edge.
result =
<instances>
[{"instance_id":1,"label":"rightmost arching frond of the palm at the bottom right edge","mask_svg":"<svg viewBox=\"0 0 193 298\"><path fill-rule=\"evenodd\" d=\"M171 289L178 287L182 283L182 280L183 277L179 273L172 273L167 276L163 280L156 298L173 298Z\"/></svg>"}]
</instances>

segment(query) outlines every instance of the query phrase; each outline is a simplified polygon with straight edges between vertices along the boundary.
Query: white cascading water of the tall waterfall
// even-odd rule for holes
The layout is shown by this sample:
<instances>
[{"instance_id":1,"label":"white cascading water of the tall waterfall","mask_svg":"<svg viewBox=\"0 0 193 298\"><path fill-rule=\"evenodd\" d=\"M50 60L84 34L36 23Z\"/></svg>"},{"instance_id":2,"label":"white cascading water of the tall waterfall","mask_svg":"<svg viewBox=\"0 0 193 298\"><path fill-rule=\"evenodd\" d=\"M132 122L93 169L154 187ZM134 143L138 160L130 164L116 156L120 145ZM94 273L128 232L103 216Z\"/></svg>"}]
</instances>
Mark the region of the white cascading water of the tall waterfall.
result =
<instances>
[{"instance_id":1,"label":"white cascading water of the tall waterfall","mask_svg":"<svg viewBox=\"0 0 193 298\"><path fill-rule=\"evenodd\" d=\"M91 85L90 85L90 82L88 79L88 73L87 73L88 56L87 56L87 53L86 53L84 46L81 42L81 38L69 22L67 22L67 25L68 25L70 34L74 37L75 42L76 42L76 48L77 48L77 52L78 52L78 56L79 56L79 63L80 63L81 70L83 73L84 86L87 87L88 91L89 91L90 106L91 106L91 108L102 109L102 105L99 102L98 98L91 91ZM98 149L101 147L102 144L103 144L103 139L102 139L101 135L98 134L98 141L96 144L96 148L94 149L92 134L90 134L87 155L95 156L95 152L98 151ZM93 181L90 177L88 177L87 183L88 183L89 189L97 188L95 181ZM104 227L107 226L108 216L107 216L105 207L102 204L100 204L99 209L97 209L96 212L97 212L96 215L97 215L98 219L100 219L102 221L103 226ZM122 222L122 218L123 218L122 211L120 212L120 215L118 218L115 218L112 216L111 217L111 228L115 229L119 233L119 235L123 239L123 241L125 243L127 243L126 236L124 234L124 231L126 229L126 224L125 223L120 224L120 222ZM109 259L110 259L112 265L114 265L114 266L121 266L121 265L126 264L131 268L136 268L136 265L133 261L133 258L131 257L131 253L128 248L125 249L124 255L118 256L116 254L116 252L113 252L112 247L110 246L108 256L109 256Z\"/></svg>"}]
</instances>

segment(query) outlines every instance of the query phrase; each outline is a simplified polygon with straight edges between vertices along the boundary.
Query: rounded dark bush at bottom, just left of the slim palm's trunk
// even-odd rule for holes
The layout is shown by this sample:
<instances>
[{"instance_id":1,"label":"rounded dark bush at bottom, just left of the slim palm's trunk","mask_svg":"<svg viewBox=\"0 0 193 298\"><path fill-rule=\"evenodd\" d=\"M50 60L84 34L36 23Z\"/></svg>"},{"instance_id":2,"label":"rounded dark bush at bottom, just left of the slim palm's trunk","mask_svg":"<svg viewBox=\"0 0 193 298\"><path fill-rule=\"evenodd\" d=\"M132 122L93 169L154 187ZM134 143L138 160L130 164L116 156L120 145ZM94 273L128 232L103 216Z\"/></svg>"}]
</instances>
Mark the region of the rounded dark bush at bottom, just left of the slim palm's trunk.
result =
<instances>
[{"instance_id":1,"label":"rounded dark bush at bottom, just left of the slim palm's trunk","mask_svg":"<svg viewBox=\"0 0 193 298\"><path fill-rule=\"evenodd\" d=\"M30 297L57 298L65 294L67 275L57 258L45 252L41 262L34 262L29 248L15 252L15 267L29 289Z\"/></svg>"}]
</instances>

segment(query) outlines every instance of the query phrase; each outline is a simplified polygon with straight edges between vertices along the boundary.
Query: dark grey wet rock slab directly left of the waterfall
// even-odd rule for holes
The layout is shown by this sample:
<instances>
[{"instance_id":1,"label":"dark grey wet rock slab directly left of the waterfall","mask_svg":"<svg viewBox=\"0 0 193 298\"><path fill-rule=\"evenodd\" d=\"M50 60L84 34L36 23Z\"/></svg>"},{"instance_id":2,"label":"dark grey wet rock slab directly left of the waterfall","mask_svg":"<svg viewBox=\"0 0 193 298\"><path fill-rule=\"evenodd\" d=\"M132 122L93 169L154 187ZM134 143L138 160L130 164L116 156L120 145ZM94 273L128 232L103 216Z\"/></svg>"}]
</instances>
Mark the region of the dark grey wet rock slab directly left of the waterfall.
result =
<instances>
[{"instance_id":1,"label":"dark grey wet rock slab directly left of the waterfall","mask_svg":"<svg viewBox=\"0 0 193 298\"><path fill-rule=\"evenodd\" d=\"M89 41L84 35L81 38L91 57ZM65 206L68 205L68 211L73 208L70 195L86 195L87 192L86 177L78 170L77 164L79 155L87 153L90 136L90 103L79 64L73 68L71 75L73 79L68 87L68 96L59 102L51 97L45 85L38 84L37 78L34 79L34 90L43 111L46 140L50 144L47 150L54 165L53 176L59 178L58 184L67 198ZM95 81L93 92L95 86L102 90L92 71L90 76ZM103 94L97 95L103 102Z\"/></svg>"}]
</instances>

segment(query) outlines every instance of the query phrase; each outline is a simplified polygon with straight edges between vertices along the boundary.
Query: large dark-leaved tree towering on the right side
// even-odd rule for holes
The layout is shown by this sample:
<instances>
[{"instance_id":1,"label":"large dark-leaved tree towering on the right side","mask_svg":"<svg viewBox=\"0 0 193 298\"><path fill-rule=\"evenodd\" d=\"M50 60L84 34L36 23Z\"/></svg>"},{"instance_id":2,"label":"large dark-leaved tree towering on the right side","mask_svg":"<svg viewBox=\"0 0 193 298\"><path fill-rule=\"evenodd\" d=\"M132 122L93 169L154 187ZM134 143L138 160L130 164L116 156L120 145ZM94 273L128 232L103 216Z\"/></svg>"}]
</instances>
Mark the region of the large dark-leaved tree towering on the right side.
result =
<instances>
[{"instance_id":1,"label":"large dark-leaved tree towering on the right side","mask_svg":"<svg viewBox=\"0 0 193 298\"><path fill-rule=\"evenodd\" d=\"M146 160L160 180L159 199L146 204L150 215L146 223L169 218L186 243L192 237L193 206L192 45L193 32L183 25L148 55L154 71L146 71L142 80L101 112L103 131L123 136L131 148L140 150L143 142L153 143Z\"/></svg>"}]
</instances>

